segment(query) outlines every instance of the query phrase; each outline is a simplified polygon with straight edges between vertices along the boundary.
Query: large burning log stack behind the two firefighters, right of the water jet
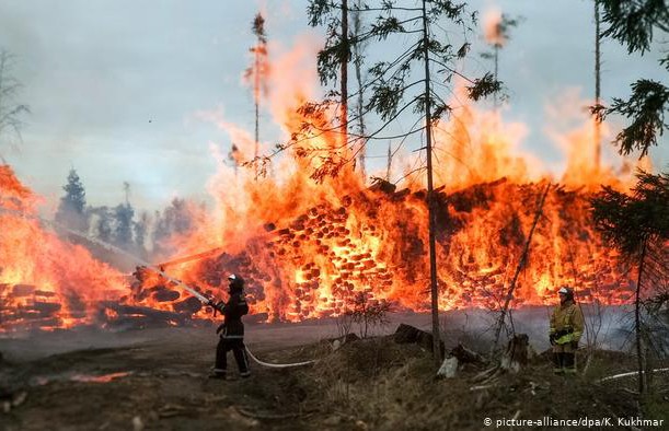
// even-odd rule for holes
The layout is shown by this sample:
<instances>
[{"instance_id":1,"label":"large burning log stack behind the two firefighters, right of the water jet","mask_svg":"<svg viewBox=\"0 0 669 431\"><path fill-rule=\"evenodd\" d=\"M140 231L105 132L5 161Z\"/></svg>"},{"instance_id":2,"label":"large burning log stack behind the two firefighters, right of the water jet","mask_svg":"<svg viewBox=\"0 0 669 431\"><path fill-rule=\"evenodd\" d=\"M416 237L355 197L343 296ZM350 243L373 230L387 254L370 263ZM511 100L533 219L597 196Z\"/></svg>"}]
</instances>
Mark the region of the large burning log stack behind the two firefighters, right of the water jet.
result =
<instances>
[{"instance_id":1,"label":"large burning log stack behind the two firefighters, right of the water jet","mask_svg":"<svg viewBox=\"0 0 669 431\"><path fill-rule=\"evenodd\" d=\"M442 308L498 306L542 188L500 179L450 195L437 190ZM242 273L253 312L270 321L341 315L360 293L371 305L427 310L425 191L376 187L337 203L312 207L285 228L267 223L244 252L208 258L185 279L220 292L226 273ZM586 302L628 301L632 278L588 220L587 196L560 187L550 194L516 306L550 302L562 283L575 284Z\"/></svg>"}]
</instances>

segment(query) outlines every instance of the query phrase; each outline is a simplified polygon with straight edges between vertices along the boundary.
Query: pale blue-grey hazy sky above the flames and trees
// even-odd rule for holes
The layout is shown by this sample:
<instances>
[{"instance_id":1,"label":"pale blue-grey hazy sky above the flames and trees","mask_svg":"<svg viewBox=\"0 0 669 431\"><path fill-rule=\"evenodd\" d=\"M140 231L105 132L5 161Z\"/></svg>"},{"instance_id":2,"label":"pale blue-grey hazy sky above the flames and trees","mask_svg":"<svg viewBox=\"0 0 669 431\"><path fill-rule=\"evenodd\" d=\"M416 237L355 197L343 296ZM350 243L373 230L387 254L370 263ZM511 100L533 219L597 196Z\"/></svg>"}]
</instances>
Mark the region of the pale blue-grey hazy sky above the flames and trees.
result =
<instances>
[{"instance_id":1,"label":"pale blue-grey hazy sky above the flames and trees","mask_svg":"<svg viewBox=\"0 0 669 431\"><path fill-rule=\"evenodd\" d=\"M53 201L61 196L71 166L92 205L118 203L126 180L140 208L159 208L174 196L204 198L217 168L211 144L226 154L230 138L198 113L218 110L253 130L253 101L241 79L254 42L251 21L263 8L277 51L297 40L318 46L320 32L308 27L305 4L0 0L0 47L16 56L14 74L24 85L20 101L32 109L23 143L12 150L1 142L0 153L24 183ZM489 7L524 18L500 57L500 79L510 91L504 117L527 124L523 150L560 166L563 155L543 131L545 106L569 92L592 97L592 2L470 2L471 10ZM666 35L656 45L667 49ZM607 40L602 55L605 98L626 96L628 83L639 77L666 82L657 54L627 56ZM481 69L484 60L473 61ZM270 115L263 118L266 123ZM281 136L278 127L264 126L262 138L276 142ZM666 166L669 145L664 139L653 156L656 165ZM372 154L384 151L370 149Z\"/></svg>"}]
</instances>

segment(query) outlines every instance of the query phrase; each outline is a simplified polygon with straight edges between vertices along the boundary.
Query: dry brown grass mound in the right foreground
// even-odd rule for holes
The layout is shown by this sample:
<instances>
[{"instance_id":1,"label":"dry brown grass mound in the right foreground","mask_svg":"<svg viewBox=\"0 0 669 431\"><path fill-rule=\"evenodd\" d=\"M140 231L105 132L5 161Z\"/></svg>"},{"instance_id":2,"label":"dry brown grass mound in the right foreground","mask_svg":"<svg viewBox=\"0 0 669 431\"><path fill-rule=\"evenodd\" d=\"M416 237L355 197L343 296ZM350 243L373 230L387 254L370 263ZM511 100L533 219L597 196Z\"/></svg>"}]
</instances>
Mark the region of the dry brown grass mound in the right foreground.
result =
<instances>
[{"instance_id":1,"label":"dry brown grass mound in the right foreground","mask_svg":"<svg viewBox=\"0 0 669 431\"><path fill-rule=\"evenodd\" d=\"M325 352L323 346L314 347ZM483 419L637 415L633 380L596 384L603 375L630 370L634 359L621 352L598 352L588 375L555 376L547 354L519 374L505 374L494 386L470 391L481 370L469 368L455 378L435 378L431 356L416 345L392 338L361 339L327 352L296 378L307 403L326 418L326 429L480 430ZM633 368L632 368L633 369ZM669 409L655 397L653 410Z\"/></svg>"}]
</instances>

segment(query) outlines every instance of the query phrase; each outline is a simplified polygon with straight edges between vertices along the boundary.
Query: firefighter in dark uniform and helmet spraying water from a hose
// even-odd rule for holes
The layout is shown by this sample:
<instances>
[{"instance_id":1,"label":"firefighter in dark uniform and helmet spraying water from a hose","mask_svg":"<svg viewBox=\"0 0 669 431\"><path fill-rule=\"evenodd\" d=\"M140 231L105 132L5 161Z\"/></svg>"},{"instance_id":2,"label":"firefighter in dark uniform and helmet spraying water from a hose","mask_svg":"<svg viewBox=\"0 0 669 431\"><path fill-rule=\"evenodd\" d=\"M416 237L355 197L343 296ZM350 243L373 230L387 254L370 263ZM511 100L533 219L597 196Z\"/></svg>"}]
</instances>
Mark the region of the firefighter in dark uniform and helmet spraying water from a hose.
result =
<instances>
[{"instance_id":1,"label":"firefighter in dark uniform and helmet spraying water from a hose","mask_svg":"<svg viewBox=\"0 0 669 431\"><path fill-rule=\"evenodd\" d=\"M226 378L228 371L228 352L232 350L234 360L240 370L240 376L249 377L249 358L244 347L244 324L242 316L249 313L249 305L244 299L244 280L238 275L228 277L230 298L227 303L215 303L209 300L209 305L221 312L223 323L218 327L216 334L220 335L216 347L216 364L211 378Z\"/></svg>"}]
</instances>

